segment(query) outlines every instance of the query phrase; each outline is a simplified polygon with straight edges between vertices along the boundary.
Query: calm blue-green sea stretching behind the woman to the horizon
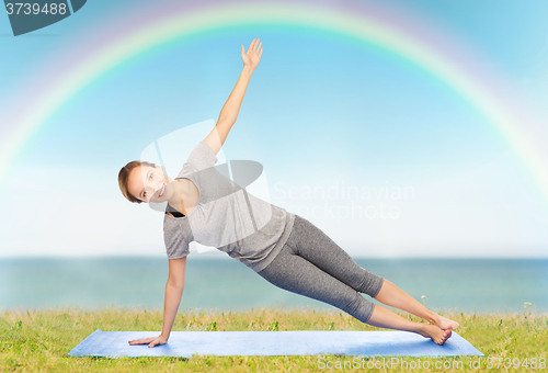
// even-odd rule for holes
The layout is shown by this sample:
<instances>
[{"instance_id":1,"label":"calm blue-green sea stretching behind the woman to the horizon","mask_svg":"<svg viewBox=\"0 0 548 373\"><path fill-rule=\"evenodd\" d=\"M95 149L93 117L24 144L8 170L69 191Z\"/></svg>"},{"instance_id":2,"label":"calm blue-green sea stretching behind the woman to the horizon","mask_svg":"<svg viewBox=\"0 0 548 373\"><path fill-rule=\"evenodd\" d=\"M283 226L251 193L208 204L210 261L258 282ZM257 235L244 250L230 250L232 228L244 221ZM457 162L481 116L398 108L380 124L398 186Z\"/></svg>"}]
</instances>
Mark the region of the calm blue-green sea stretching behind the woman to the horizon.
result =
<instances>
[{"instance_id":1,"label":"calm blue-green sea stretching behind the woman to the horizon","mask_svg":"<svg viewBox=\"0 0 548 373\"><path fill-rule=\"evenodd\" d=\"M434 310L518 313L529 302L527 309L548 312L548 259L355 260ZM165 258L4 258L0 310L66 305L163 309L167 279ZM189 257L180 312L271 306L333 308L277 289L233 259Z\"/></svg>"}]
</instances>

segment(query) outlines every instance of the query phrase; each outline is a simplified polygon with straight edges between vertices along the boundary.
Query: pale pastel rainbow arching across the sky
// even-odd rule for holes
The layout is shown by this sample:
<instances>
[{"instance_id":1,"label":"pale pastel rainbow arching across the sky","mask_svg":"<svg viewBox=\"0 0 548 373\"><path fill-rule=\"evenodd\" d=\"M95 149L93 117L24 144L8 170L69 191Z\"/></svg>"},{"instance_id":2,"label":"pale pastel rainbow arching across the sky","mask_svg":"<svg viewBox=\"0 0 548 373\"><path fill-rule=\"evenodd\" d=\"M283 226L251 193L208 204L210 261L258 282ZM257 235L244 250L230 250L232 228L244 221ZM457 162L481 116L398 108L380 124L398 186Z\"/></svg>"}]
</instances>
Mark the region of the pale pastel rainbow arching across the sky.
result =
<instances>
[{"instance_id":1,"label":"pale pastel rainbow arching across the sky","mask_svg":"<svg viewBox=\"0 0 548 373\"><path fill-rule=\"evenodd\" d=\"M466 58L455 59L443 47L436 46L435 41L422 37L424 35L419 32L404 30L401 26L403 23L395 22L378 11L307 2L230 1L213 4L212 1L206 1L192 9L179 5L169 12L150 8L144 10L142 14L147 18L141 15L139 22L123 25L123 30L122 26L111 30L109 37L94 41L96 47L72 60L70 68L35 92L30 103L26 101L26 110L12 115L9 122L11 131L0 146L0 177L7 172L33 134L71 97L121 64L153 52L160 45L206 32L277 25L327 31L368 46L384 48L443 81L472 105L494 133L506 139L546 197L545 203L548 201L548 172L540 147L535 146L534 140L521 128L516 115L510 113L511 100L500 99L501 94L484 76L470 72L466 68ZM435 32L429 34L432 36Z\"/></svg>"}]
</instances>

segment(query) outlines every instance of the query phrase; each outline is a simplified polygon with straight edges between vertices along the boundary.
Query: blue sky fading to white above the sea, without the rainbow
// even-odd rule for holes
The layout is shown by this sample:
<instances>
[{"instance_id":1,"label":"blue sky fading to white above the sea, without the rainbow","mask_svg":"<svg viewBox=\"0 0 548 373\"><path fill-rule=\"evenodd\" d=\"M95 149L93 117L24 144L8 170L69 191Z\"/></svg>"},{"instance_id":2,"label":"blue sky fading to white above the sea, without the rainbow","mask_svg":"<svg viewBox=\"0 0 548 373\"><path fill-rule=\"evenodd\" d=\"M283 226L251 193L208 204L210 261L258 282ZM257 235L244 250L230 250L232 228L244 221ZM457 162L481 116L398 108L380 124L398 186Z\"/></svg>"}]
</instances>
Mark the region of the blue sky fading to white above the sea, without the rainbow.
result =
<instances>
[{"instance_id":1,"label":"blue sky fading to white above the sea, without the rainbow","mask_svg":"<svg viewBox=\"0 0 548 373\"><path fill-rule=\"evenodd\" d=\"M192 5L153 7L181 3ZM516 123L535 144L548 140L546 1L322 4L361 7L431 43L476 71L470 78L487 82L500 108L526 113ZM35 110L35 92L47 92L67 66L84 64L81 56L115 38L105 36L111 29L151 7L88 1L16 37L0 16L0 144L20 125L18 115ZM254 37L264 52L218 158L261 162L261 196L308 218L353 257L548 257L543 169L472 99L393 50L288 24L178 38L75 92L0 174L0 257L165 256L163 214L125 200L117 173L169 138L168 172L175 177L238 80L240 44L247 50ZM543 151L537 159L548 165Z\"/></svg>"}]
</instances>

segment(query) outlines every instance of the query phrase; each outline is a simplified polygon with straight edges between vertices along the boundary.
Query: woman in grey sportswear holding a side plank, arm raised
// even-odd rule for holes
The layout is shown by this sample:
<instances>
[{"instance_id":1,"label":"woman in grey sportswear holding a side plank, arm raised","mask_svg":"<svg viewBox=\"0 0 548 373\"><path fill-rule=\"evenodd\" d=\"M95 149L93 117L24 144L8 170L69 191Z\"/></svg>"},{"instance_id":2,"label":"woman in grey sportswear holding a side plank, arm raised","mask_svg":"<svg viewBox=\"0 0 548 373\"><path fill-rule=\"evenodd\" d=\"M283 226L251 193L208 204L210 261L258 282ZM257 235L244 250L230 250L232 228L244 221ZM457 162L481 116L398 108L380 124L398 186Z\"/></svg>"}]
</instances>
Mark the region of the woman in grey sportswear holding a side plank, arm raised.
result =
<instances>
[{"instance_id":1,"label":"woman in grey sportswear holding a side plank, arm raised","mask_svg":"<svg viewBox=\"0 0 548 373\"><path fill-rule=\"evenodd\" d=\"M437 344L445 343L458 323L429 310L390 281L361 268L313 224L246 193L214 167L261 59L261 45L253 39L247 53L241 45L240 78L212 133L194 148L176 179L145 161L129 162L119 171L119 188L130 202L168 202L164 241L169 278L162 332L129 344L155 347L168 342L184 289L192 240L217 247L272 284L339 307L363 323L416 332ZM408 320L359 293L430 324Z\"/></svg>"}]
</instances>

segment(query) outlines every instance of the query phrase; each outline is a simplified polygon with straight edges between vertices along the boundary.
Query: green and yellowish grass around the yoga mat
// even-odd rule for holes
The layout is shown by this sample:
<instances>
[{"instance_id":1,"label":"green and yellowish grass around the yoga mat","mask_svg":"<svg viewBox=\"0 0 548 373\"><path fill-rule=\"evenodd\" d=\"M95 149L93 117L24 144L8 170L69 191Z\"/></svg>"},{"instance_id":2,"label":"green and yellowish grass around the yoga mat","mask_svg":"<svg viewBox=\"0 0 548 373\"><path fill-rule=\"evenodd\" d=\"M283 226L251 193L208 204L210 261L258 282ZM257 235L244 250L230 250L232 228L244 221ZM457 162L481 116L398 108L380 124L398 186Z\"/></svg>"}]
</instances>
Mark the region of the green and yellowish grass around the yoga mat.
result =
<instances>
[{"instance_id":1,"label":"green and yellowish grass around the yoga mat","mask_svg":"<svg viewBox=\"0 0 548 373\"><path fill-rule=\"evenodd\" d=\"M401 314L412 320L419 318ZM401 369L402 361L418 364L418 358L399 358L391 369L373 368L380 365L383 358L369 358L359 363L372 369L357 371L375 372L452 372L487 371L488 358L516 358L527 362L532 358L548 358L548 315L537 313L521 314L444 314L460 323L458 334L486 354L481 358L481 369L469 366L470 358L425 359L430 369ZM0 372L318 372L321 364L333 368L349 368L355 363L353 357L198 357L182 358L69 358L67 353L96 329L110 330L160 330L162 313L142 309L98 309L57 308L50 310L19 310L0 314ZM362 324L339 310L316 312L302 309L255 309L240 313L182 312L178 315L173 330L386 330ZM321 362L320 358L323 358ZM389 359L389 358L388 358ZM478 360L479 358L473 358ZM506 360L507 362L509 360ZM546 360L545 360L546 361ZM344 365L346 362L346 365ZM436 369L435 363L445 368ZM461 362L464 365L456 365ZM511 361L512 362L512 361ZM496 362L495 362L496 363ZM506 371L504 360L499 369ZM447 369L454 364L454 369ZM377 366L378 366L377 365ZM403 363L404 365L404 363ZM363 365L361 365L363 366ZM386 366L386 365L385 365ZM442 366L442 365L439 365ZM548 371L544 369L520 368L510 371ZM350 371L350 369L331 369Z\"/></svg>"}]
</instances>

